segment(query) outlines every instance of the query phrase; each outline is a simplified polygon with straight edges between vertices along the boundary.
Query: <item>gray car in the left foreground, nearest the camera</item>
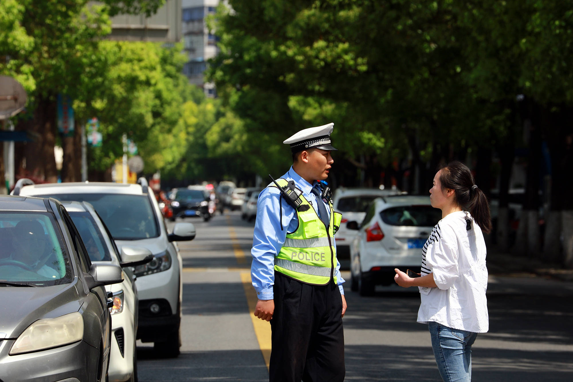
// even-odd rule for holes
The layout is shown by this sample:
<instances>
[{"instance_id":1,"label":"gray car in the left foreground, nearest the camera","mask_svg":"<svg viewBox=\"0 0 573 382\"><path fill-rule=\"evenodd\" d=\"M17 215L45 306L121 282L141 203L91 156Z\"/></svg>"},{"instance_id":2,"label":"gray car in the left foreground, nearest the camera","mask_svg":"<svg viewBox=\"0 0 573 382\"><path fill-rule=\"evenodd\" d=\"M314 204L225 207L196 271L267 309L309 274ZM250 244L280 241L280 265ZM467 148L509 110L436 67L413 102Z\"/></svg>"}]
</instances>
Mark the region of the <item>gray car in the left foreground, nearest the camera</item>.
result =
<instances>
[{"instance_id":1,"label":"gray car in the left foreground, nearest the camera","mask_svg":"<svg viewBox=\"0 0 573 382\"><path fill-rule=\"evenodd\" d=\"M111 318L104 285L121 268L92 264L60 202L0 196L0 376L103 381Z\"/></svg>"}]
</instances>

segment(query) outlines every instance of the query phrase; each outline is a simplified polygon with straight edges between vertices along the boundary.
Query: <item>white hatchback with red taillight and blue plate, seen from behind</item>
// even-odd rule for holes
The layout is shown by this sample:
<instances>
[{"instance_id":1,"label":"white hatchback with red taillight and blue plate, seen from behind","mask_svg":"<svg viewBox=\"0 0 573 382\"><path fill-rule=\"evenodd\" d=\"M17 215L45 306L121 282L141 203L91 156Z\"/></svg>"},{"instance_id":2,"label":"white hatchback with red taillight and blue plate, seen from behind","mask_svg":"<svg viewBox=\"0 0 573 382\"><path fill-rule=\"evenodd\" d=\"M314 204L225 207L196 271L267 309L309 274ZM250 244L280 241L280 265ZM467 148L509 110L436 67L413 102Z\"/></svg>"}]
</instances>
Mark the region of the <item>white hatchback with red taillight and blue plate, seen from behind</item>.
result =
<instances>
[{"instance_id":1,"label":"white hatchback with red taillight and blue plate, seen from behind","mask_svg":"<svg viewBox=\"0 0 573 382\"><path fill-rule=\"evenodd\" d=\"M387 196L372 202L362 223L349 221L358 233L350 245L351 289L374 293L376 284L394 283L394 268L419 272L422 248L442 212L429 196Z\"/></svg>"}]
</instances>

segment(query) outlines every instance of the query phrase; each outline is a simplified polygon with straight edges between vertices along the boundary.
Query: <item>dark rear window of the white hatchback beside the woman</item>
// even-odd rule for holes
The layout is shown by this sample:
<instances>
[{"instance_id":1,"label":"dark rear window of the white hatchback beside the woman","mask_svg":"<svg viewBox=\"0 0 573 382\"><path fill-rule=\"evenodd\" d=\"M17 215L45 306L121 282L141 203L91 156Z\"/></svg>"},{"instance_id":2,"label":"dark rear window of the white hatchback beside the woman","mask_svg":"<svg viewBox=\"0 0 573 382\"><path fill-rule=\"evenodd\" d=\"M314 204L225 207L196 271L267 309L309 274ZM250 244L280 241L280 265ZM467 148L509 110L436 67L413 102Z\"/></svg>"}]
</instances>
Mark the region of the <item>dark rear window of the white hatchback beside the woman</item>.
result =
<instances>
[{"instance_id":1,"label":"dark rear window of the white hatchback beside the woman","mask_svg":"<svg viewBox=\"0 0 573 382\"><path fill-rule=\"evenodd\" d=\"M380 217L388 225L434 227L442 219L442 211L429 205L403 205L380 211Z\"/></svg>"}]
</instances>

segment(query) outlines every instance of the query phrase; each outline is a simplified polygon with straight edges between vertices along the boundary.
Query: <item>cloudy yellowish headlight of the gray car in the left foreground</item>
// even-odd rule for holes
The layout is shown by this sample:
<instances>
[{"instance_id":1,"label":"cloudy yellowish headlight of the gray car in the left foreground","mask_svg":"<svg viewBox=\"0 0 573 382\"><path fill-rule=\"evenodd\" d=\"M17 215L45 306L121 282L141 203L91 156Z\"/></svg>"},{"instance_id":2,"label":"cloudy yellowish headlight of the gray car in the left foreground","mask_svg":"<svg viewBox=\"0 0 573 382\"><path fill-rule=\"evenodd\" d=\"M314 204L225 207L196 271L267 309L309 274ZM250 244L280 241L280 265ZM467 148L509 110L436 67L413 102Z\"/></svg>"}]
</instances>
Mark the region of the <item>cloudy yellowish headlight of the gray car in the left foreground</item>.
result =
<instances>
[{"instance_id":1,"label":"cloudy yellowish headlight of the gray car in the left foreground","mask_svg":"<svg viewBox=\"0 0 573 382\"><path fill-rule=\"evenodd\" d=\"M57 318L38 319L18 337L10 355L37 352L73 344L84 337L84 318L79 312Z\"/></svg>"}]
</instances>

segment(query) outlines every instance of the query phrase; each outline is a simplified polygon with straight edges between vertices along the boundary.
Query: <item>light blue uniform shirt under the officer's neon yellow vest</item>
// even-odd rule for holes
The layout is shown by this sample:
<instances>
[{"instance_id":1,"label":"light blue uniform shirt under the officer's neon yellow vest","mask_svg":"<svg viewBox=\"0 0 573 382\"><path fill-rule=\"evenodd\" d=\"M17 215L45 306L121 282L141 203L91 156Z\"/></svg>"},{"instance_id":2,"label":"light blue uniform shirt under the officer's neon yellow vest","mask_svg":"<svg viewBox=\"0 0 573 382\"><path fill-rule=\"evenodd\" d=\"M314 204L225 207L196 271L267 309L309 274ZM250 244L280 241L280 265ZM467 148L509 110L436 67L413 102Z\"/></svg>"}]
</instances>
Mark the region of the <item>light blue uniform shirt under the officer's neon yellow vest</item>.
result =
<instances>
[{"instance_id":1,"label":"light blue uniform shirt under the officer's neon yellow vest","mask_svg":"<svg viewBox=\"0 0 573 382\"><path fill-rule=\"evenodd\" d=\"M313 185L301 178L292 166L281 178L295 181L297 188L303 191L303 196L318 213L317 202L324 202L322 200L317 201L315 194L311 193ZM315 181L314 185L316 183ZM251 255L253 255L251 279L253 280L253 287L257 291L257 297L261 300L273 299L274 258L281 251L286 233L296 231L299 226L299 218L295 209L284 198L282 198L282 221L280 220L281 211L278 205L280 193L276 187L267 187L262 190L257 201L257 220L254 225L253 248L251 250ZM328 205L326 208L330 217L330 208ZM332 245L336 248L335 240L332 240ZM338 280L340 294L344 294L342 288L344 279L340 276L338 259L336 259L335 277Z\"/></svg>"}]
</instances>

